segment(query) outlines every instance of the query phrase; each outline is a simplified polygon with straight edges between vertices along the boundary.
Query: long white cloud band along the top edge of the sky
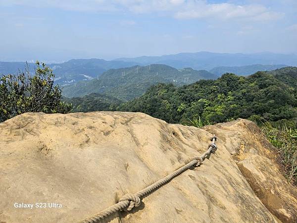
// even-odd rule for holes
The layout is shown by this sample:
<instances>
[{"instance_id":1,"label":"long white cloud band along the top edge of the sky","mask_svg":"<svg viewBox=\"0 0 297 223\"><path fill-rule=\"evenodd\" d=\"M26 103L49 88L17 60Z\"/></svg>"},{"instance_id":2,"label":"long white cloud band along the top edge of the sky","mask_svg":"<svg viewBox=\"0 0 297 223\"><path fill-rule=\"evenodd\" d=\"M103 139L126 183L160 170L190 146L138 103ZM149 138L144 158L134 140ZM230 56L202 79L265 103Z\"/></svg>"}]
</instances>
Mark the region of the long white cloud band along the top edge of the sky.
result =
<instances>
[{"instance_id":1,"label":"long white cloud band along the top edge of the sky","mask_svg":"<svg viewBox=\"0 0 297 223\"><path fill-rule=\"evenodd\" d=\"M1 0L0 5L21 4L57 7L75 11L130 11L133 13L168 12L178 19L234 19L257 21L278 19L282 13L259 4L208 3L207 0Z\"/></svg>"}]
</instances>

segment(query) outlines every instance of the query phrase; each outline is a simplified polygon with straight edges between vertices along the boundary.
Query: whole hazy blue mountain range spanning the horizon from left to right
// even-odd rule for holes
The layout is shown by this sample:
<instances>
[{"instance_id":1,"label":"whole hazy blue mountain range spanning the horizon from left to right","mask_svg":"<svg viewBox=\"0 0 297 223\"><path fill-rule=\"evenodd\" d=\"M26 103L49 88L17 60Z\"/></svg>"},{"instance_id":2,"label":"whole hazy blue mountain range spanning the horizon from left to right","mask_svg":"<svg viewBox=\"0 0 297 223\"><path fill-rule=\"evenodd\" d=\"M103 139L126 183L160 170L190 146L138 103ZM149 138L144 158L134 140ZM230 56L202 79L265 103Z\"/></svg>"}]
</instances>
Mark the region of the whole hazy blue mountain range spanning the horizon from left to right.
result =
<instances>
[{"instance_id":1,"label":"whole hazy blue mountain range spanning the horizon from left to right","mask_svg":"<svg viewBox=\"0 0 297 223\"><path fill-rule=\"evenodd\" d=\"M71 59L63 63L48 64L55 74L55 83L70 85L83 80L98 78L109 69L131 67L134 65L165 64L176 69L192 67L195 70L207 70L220 76L225 72L239 75L252 74L257 70L273 70L281 66L297 66L294 54L219 54L209 52L180 53L165 56L141 56L135 58L104 59ZM270 64L270 65L261 65ZM281 64L281 65L275 65ZM286 65L282 65L286 64ZM235 67L236 66L236 67ZM16 73L24 70L26 62L0 62L0 75ZM35 64L28 63L30 72L34 72Z\"/></svg>"}]
</instances>

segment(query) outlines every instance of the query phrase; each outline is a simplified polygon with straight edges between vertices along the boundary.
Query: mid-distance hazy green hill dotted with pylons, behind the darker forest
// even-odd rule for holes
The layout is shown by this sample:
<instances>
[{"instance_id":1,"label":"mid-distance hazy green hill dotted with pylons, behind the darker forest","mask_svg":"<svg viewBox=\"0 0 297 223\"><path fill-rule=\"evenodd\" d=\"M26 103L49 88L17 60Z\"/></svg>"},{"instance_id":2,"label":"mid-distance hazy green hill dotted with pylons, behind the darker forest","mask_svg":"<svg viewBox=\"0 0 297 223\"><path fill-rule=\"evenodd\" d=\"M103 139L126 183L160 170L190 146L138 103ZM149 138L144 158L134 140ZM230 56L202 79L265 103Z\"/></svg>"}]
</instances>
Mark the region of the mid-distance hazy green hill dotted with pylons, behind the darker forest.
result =
<instances>
[{"instance_id":1,"label":"mid-distance hazy green hill dotted with pylons, behind the darker forest","mask_svg":"<svg viewBox=\"0 0 297 223\"><path fill-rule=\"evenodd\" d=\"M200 79L216 78L216 75L206 70L194 70L192 68L178 70L163 64L151 64L110 69L96 80L65 86L63 95L70 98L91 93L104 93L128 101L141 96L153 84L173 83L175 86L182 86Z\"/></svg>"}]
</instances>

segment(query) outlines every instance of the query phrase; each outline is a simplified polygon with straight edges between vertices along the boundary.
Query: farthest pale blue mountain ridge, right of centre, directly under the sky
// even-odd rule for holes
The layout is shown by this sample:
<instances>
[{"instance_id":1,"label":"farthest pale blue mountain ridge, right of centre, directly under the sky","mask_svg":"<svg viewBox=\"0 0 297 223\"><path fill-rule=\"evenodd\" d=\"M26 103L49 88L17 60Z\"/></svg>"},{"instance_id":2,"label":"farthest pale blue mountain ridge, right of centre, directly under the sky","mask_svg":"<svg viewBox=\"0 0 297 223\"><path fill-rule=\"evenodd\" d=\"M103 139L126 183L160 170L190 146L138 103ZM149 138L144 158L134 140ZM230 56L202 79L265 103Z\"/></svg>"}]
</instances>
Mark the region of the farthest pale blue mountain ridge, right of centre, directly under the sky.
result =
<instances>
[{"instance_id":1,"label":"farthest pale blue mountain ridge, right of centre, directly under the sky","mask_svg":"<svg viewBox=\"0 0 297 223\"><path fill-rule=\"evenodd\" d=\"M134 58L117 58L125 62L137 62L142 65L149 63L160 63L180 69L192 67L193 69L211 70L218 66L245 66L250 64L287 64L297 66L297 55L295 54L225 54L225 53L180 53L163 56L140 56Z\"/></svg>"}]
</instances>

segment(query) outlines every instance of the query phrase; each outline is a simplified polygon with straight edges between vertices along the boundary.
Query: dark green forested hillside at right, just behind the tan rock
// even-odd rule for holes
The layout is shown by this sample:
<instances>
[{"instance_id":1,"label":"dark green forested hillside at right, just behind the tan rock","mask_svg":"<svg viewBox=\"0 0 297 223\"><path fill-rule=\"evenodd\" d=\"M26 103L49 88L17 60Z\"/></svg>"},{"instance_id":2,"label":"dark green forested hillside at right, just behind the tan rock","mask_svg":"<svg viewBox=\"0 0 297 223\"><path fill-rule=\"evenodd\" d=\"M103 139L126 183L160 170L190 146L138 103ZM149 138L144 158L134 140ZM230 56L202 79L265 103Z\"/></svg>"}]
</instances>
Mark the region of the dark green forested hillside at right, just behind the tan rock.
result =
<instances>
[{"instance_id":1,"label":"dark green forested hillside at right, just behind the tan rock","mask_svg":"<svg viewBox=\"0 0 297 223\"><path fill-rule=\"evenodd\" d=\"M200 117L210 123L238 117L276 122L297 117L297 68L257 72L243 77L224 74L217 80L200 80L182 87L157 84L119 111L140 111L171 123Z\"/></svg>"}]
</instances>

